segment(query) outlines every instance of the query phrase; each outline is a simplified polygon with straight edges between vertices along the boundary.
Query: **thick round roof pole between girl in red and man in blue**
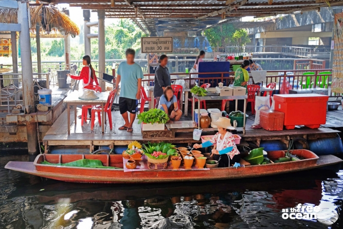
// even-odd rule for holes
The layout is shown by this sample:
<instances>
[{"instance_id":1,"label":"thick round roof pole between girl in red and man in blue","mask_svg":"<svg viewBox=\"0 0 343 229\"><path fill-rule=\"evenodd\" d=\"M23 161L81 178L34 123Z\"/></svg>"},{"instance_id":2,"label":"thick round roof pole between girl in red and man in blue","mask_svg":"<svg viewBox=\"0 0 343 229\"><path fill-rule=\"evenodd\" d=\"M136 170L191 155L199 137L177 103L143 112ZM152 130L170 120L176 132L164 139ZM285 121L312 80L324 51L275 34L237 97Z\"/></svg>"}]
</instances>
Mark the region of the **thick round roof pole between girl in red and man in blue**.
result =
<instances>
[{"instance_id":1,"label":"thick round roof pole between girl in red and man in blue","mask_svg":"<svg viewBox=\"0 0 343 229\"><path fill-rule=\"evenodd\" d=\"M98 50L99 50L99 77L103 78L102 74L105 73L105 10L98 10L98 21L99 21L99 37L98 37ZM101 82L101 89L105 91L105 82Z\"/></svg>"}]
</instances>

